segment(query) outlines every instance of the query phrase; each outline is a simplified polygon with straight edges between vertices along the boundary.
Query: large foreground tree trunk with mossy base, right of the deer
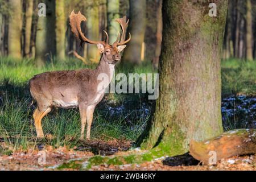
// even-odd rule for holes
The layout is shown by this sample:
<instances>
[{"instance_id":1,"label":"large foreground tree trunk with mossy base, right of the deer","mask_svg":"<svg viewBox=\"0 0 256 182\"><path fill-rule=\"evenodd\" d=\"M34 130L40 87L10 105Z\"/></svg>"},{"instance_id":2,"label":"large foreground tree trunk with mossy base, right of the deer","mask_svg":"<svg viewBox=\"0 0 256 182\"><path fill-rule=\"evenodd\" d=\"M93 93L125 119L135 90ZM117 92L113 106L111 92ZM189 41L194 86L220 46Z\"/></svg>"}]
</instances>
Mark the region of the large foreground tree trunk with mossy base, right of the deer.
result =
<instances>
[{"instance_id":1,"label":"large foreground tree trunk with mossy base, right of the deer","mask_svg":"<svg viewBox=\"0 0 256 182\"><path fill-rule=\"evenodd\" d=\"M191 139L223 132L220 62L228 0L215 3L217 17L210 17L203 1L163 1L159 98L137 141L143 149L180 155Z\"/></svg>"}]
</instances>

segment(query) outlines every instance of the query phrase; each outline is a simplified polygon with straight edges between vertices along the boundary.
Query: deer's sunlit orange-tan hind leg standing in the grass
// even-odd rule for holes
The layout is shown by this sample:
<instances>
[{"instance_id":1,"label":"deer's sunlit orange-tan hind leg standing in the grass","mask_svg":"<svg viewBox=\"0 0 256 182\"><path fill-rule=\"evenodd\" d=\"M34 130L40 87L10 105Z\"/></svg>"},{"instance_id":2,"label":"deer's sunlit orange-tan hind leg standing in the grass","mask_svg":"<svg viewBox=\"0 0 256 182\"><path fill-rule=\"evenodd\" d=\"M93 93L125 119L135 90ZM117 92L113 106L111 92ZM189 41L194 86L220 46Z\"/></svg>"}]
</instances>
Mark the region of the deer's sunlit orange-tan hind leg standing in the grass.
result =
<instances>
[{"instance_id":1,"label":"deer's sunlit orange-tan hind leg standing in the grass","mask_svg":"<svg viewBox=\"0 0 256 182\"><path fill-rule=\"evenodd\" d=\"M33 117L34 117L34 121L35 121L35 127L36 127L36 136L38 138L43 138L44 137L44 133L43 133L43 128L42 128L42 118L48 114L51 111L51 108L48 107L46 110L44 111L39 111L38 108L36 108Z\"/></svg>"}]
</instances>

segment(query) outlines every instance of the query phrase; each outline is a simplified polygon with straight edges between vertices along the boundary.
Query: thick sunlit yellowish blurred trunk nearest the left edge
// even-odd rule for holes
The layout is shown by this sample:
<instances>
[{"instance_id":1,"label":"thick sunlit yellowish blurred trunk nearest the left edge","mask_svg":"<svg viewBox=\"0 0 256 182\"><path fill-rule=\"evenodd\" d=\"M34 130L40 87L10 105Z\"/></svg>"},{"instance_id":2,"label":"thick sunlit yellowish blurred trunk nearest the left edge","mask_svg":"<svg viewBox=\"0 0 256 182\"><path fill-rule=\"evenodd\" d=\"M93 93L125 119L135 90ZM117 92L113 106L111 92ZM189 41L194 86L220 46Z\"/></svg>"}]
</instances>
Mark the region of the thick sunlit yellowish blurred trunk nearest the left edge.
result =
<instances>
[{"instance_id":1,"label":"thick sunlit yellowish blurred trunk nearest the left edge","mask_svg":"<svg viewBox=\"0 0 256 182\"><path fill-rule=\"evenodd\" d=\"M11 15L9 17L8 53L14 58L21 58L22 35L22 1L10 0Z\"/></svg>"}]
</instances>

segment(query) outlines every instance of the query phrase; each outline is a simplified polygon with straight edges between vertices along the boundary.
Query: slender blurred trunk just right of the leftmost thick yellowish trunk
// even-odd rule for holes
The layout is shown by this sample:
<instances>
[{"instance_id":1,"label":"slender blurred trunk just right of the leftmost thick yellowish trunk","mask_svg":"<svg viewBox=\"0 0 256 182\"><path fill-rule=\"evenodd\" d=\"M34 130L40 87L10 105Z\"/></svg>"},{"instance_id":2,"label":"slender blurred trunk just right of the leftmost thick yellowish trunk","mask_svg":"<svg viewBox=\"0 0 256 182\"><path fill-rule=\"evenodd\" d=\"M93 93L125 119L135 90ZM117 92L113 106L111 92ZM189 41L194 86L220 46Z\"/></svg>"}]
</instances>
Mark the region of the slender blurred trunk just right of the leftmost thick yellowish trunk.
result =
<instances>
[{"instance_id":1,"label":"slender blurred trunk just right of the leftmost thick yellowish trunk","mask_svg":"<svg viewBox=\"0 0 256 182\"><path fill-rule=\"evenodd\" d=\"M30 56L32 14L33 14L33 0L26 0L26 24L25 24L25 43L24 43L24 55L26 57Z\"/></svg>"}]
</instances>

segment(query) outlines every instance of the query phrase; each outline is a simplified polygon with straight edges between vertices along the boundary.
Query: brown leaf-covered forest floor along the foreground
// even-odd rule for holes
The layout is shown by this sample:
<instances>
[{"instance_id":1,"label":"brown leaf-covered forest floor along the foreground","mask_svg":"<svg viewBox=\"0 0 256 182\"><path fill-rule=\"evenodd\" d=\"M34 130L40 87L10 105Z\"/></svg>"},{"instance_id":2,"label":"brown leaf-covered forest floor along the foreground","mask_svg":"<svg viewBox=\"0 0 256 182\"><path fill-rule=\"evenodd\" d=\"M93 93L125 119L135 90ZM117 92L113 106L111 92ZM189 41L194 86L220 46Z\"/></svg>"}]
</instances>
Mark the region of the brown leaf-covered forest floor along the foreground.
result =
<instances>
[{"instance_id":1,"label":"brown leaf-covered forest floor along the foreground","mask_svg":"<svg viewBox=\"0 0 256 182\"><path fill-rule=\"evenodd\" d=\"M130 146L129 142L113 140L109 142L94 141L90 143L94 146L101 146L101 151L117 151L127 150ZM5 148L5 143L1 143L1 147ZM91 151L80 151L77 148L67 149L67 147L59 147L53 149L52 146L43 147L43 150L27 150L16 151L11 155L0 155L0 170L81 170L79 160L83 161L86 165L86 161L94 156ZM46 160L44 163L40 160L42 151L46 154ZM120 151L121 153L122 151ZM119 152L115 153L116 155ZM121 153L122 154L122 153ZM111 157L111 156L110 156ZM72 161L72 165L70 164ZM65 165L69 164L69 165ZM160 158L152 160L151 162L144 162L141 164L124 164L113 165L102 163L98 166L92 166L89 170L156 170L156 171L215 171L215 170L256 170L256 155L234 156L228 159L222 159L217 162L216 165L202 165L197 160L193 159L189 154L175 157Z\"/></svg>"}]
</instances>

